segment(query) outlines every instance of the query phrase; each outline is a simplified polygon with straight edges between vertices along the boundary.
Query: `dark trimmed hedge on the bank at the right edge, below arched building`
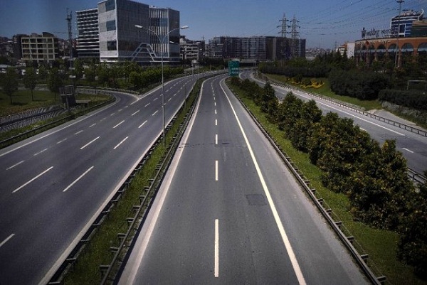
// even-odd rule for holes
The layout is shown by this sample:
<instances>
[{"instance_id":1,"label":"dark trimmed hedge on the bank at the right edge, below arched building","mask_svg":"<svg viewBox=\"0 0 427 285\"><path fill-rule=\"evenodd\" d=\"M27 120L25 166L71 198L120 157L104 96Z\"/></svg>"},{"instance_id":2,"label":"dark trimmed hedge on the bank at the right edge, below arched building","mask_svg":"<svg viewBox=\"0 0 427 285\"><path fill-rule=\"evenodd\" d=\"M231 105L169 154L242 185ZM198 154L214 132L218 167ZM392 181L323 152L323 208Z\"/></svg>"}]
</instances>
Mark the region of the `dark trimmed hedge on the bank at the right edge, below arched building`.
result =
<instances>
[{"instance_id":1,"label":"dark trimmed hedge on the bank at the right edge, below arched building","mask_svg":"<svg viewBox=\"0 0 427 285\"><path fill-rule=\"evenodd\" d=\"M381 90L379 100L417 110L427 110L427 95L421 91Z\"/></svg>"}]
</instances>

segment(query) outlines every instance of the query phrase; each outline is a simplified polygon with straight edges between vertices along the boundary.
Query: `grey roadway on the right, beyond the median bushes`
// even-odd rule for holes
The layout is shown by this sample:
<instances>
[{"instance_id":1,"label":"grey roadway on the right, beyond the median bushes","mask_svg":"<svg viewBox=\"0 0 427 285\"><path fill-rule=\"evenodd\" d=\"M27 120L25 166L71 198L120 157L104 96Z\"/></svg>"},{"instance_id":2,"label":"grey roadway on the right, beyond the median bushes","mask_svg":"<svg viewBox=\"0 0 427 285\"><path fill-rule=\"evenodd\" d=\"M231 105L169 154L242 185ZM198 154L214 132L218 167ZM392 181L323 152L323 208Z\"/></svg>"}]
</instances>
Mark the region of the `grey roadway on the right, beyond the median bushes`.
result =
<instances>
[{"instance_id":1,"label":"grey roadway on the right, beyond the median bushes","mask_svg":"<svg viewBox=\"0 0 427 285\"><path fill-rule=\"evenodd\" d=\"M263 82L253 78L250 72L246 72L244 76L245 78L255 80L256 82L259 82L263 85ZM345 109L344 107L340 107L337 104L322 100L319 97L314 97L307 92L295 90L293 88L279 87L277 85L273 85L273 87L279 100L283 100L285 95L292 91L294 95L300 97L302 100L315 100L317 107L322 110L323 114L326 114L327 112L335 112L340 117L347 117L352 119L354 124L357 124L361 129L367 131L371 135L371 138L379 141L380 144L383 144L386 139L396 140L396 148L401 151L401 153L406 158L409 168L421 174L423 171L427 170L426 136L418 135L411 131L401 129L397 126L387 124L386 122L380 122L371 117L354 112L352 109Z\"/></svg>"}]
</instances>

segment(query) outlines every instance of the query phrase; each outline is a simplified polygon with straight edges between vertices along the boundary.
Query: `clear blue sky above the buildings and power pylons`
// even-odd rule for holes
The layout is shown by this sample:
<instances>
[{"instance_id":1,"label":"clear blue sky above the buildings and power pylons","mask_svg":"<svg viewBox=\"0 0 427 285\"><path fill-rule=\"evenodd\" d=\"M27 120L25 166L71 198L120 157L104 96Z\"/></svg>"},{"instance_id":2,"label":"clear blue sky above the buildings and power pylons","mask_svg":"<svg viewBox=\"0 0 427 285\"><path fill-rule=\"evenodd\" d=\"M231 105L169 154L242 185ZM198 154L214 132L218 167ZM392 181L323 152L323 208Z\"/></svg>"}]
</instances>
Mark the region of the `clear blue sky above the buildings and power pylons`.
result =
<instances>
[{"instance_id":1,"label":"clear blue sky above the buildings and power pylons","mask_svg":"<svg viewBox=\"0 0 427 285\"><path fill-rule=\"evenodd\" d=\"M135 0L180 11L181 35L194 41L215 36L280 36L282 20L295 22L307 48L334 48L361 38L362 28L388 29L399 14L396 0ZM53 33L68 38L67 9L97 6L97 0L0 0L0 36ZM405 0L401 9L427 13L427 0ZM427 14L425 15L427 18ZM76 32L73 14L73 35ZM278 28L278 26L280 26ZM290 32L291 28L287 27ZM290 33L287 34L291 37Z\"/></svg>"}]
</instances>

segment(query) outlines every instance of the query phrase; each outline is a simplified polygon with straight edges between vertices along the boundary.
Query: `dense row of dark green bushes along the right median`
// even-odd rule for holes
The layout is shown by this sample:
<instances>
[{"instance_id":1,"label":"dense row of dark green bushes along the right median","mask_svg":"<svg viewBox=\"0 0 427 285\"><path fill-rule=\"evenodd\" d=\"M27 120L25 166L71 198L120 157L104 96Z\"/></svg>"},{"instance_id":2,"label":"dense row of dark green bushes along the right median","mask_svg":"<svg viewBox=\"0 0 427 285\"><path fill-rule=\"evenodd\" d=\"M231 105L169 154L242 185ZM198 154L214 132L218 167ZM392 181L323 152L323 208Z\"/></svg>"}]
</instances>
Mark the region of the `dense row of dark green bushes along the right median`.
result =
<instances>
[{"instance_id":1,"label":"dense row of dark green bushes along the right median","mask_svg":"<svg viewBox=\"0 0 427 285\"><path fill-rule=\"evenodd\" d=\"M427 183L418 189L407 176L406 160L395 141L382 146L352 119L322 115L314 100L303 102L292 92L278 102L267 82L233 78L292 145L322 170L325 187L349 197L350 212L372 227L399 232L399 257L427 274Z\"/></svg>"}]
</instances>

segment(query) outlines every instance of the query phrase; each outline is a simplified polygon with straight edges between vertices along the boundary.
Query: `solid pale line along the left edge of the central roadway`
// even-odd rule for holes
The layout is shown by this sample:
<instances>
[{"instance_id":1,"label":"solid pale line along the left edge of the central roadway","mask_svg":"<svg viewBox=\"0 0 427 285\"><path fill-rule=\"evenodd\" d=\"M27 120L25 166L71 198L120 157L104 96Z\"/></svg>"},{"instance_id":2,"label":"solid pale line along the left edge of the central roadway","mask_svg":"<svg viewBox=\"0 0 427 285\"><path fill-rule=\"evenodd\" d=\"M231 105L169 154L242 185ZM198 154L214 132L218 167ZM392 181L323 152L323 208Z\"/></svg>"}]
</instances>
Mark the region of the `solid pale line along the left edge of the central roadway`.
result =
<instances>
[{"instance_id":1,"label":"solid pale line along the left edge of the central roadway","mask_svg":"<svg viewBox=\"0 0 427 285\"><path fill-rule=\"evenodd\" d=\"M203 85L204 85L204 82L201 84L201 90L203 90ZM184 133L184 136L181 139L181 145L183 145L183 146L186 144L186 141L189 138L189 134L191 132L191 129L193 128L193 124L194 124L194 121L196 119L196 115L197 115L198 110L199 110L199 105L200 105L202 95L203 95L203 91L201 91L200 96L199 96L199 101L197 102L197 105L196 105L196 109L194 109L194 116L191 117L191 121L190 121L189 126L187 128L188 131L186 131ZM139 265L141 264L142 259L144 258L144 254L145 254L145 251L147 250L149 240L150 240L152 233L154 231L154 227L156 226L157 219L159 218L160 212L161 212L163 204L164 204L164 200L166 200L166 196L167 196L167 193L169 192L169 188L170 188L170 185L172 183L172 179L174 178L174 173L176 172L176 168L178 168L179 160L181 159L181 155L182 155L182 152L184 151L184 149L185 149L184 147L181 147L181 148L178 148L176 150L176 158L173 159L172 165L170 166L170 170L169 170L170 173L172 173L172 175L167 176L164 179L164 181L163 181L164 186L163 186L163 183L161 186L161 188L164 190L161 192L161 195L158 198L156 198L156 200L158 199L159 204L157 205L157 208L151 209L153 211L153 216L149 222L149 225L147 225L147 232L146 232L144 238L142 239L142 243L141 243L140 247L138 247L139 250L137 251L136 260L139 263L135 262L133 264L134 266L132 267L132 269L129 269L129 272L127 272L126 279L125 280L120 279L118 284L134 284L134 282L135 282L135 277L137 275ZM122 276L123 276L123 274L122 274Z\"/></svg>"}]
</instances>

